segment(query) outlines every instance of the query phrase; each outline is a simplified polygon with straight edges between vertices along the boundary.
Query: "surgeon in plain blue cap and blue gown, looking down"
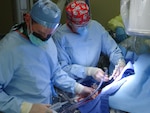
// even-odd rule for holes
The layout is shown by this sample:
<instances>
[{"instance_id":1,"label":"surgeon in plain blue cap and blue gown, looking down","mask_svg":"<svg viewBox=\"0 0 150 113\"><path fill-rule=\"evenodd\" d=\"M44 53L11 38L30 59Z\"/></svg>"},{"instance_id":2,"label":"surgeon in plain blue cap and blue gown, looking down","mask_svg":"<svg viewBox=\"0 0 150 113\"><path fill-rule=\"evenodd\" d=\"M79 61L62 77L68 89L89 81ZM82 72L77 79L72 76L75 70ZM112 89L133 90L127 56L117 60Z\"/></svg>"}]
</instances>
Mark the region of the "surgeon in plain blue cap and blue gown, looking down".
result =
<instances>
[{"instance_id":1,"label":"surgeon in plain blue cap and blue gown, looking down","mask_svg":"<svg viewBox=\"0 0 150 113\"><path fill-rule=\"evenodd\" d=\"M54 86L67 92L91 94L61 69L51 38L61 11L50 0L39 0L0 41L0 112L52 113ZM53 112L54 113L54 112Z\"/></svg>"}]
</instances>

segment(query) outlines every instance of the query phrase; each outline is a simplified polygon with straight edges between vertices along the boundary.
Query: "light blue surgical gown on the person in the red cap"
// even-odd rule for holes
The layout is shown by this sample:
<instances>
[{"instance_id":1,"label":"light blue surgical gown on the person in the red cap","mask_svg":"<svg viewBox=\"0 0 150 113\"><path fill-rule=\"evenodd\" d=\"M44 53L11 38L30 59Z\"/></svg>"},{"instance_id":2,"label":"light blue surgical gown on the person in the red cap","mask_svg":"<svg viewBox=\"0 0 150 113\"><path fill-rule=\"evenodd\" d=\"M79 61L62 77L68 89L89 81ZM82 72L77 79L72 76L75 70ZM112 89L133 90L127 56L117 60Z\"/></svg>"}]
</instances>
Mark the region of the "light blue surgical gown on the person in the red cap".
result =
<instances>
[{"instance_id":1,"label":"light blue surgical gown on the person in the red cap","mask_svg":"<svg viewBox=\"0 0 150 113\"><path fill-rule=\"evenodd\" d=\"M53 39L62 68L75 79L85 78L85 67L96 67L102 53L108 55L114 65L119 59L123 59L116 42L95 20L89 21L87 33L83 35L73 33L64 24L57 30Z\"/></svg>"}]
</instances>

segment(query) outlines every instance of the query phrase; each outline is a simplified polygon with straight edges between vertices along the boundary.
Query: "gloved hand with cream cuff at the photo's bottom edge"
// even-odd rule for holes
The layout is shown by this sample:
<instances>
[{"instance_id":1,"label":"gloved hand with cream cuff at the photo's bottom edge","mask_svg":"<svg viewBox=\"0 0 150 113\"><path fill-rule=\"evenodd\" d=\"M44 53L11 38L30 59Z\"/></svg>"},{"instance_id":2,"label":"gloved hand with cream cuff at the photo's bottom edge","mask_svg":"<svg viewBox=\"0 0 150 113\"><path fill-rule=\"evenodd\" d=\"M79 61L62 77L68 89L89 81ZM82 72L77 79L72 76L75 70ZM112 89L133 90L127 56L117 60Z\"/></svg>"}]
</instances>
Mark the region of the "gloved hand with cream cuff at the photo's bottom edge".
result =
<instances>
[{"instance_id":1,"label":"gloved hand with cream cuff at the photo's bottom edge","mask_svg":"<svg viewBox=\"0 0 150 113\"><path fill-rule=\"evenodd\" d=\"M23 102L21 105L21 113L53 113L49 104L32 104Z\"/></svg>"}]
</instances>

